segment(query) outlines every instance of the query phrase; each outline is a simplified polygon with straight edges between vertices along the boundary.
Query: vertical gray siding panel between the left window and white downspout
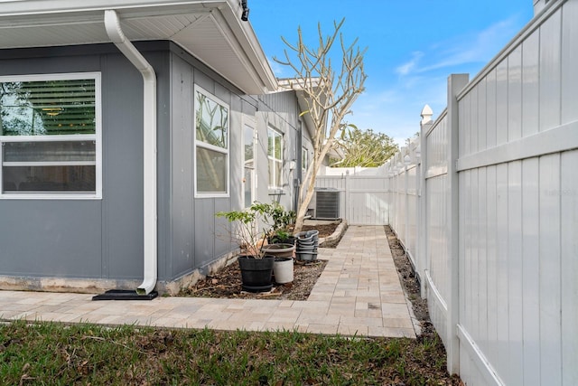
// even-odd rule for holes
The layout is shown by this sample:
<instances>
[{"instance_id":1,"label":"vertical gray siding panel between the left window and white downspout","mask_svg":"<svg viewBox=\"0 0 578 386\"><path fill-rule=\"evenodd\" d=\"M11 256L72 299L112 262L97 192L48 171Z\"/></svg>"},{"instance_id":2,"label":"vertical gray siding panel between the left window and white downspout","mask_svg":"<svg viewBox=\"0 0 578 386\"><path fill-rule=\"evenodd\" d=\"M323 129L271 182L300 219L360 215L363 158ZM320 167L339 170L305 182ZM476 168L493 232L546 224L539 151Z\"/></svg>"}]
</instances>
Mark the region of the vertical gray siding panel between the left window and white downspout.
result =
<instances>
[{"instance_id":1,"label":"vertical gray siding panel between the left window and white downspout","mask_svg":"<svg viewBox=\"0 0 578 386\"><path fill-rule=\"evenodd\" d=\"M138 278L143 264L142 80L122 55L107 55L101 62L105 267L100 278Z\"/></svg>"}]
</instances>

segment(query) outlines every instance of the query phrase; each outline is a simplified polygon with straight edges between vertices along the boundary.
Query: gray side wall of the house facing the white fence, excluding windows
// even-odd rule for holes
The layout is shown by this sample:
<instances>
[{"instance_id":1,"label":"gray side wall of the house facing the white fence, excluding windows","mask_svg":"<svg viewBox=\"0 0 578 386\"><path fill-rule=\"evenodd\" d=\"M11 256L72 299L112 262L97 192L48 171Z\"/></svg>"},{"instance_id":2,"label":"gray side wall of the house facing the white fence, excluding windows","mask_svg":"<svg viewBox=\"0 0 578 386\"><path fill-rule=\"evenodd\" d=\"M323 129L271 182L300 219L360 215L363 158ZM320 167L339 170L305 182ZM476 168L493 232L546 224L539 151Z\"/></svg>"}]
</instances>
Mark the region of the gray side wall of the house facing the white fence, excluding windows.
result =
<instances>
[{"instance_id":1,"label":"gray side wall of the house facing the white fence, excluding windows","mask_svg":"<svg viewBox=\"0 0 578 386\"><path fill-rule=\"evenodd\" d=\"M230 224L216 212L239 210L244 206L244 117L256 120L256 201L271 202L275 196L268 189L267 128L284 134L283 195L281 203L294 209L293 179L290 161L300 159L297 118L299 111L293 92L264 96L243 95L218 74L204 68L191 56L173 50L171 56L171 170L170 212L166 226L171 243L165 250L167 280L181 278L195 270L207 273L210 266L237 248L229 239ZM193 87L199 85L229 105L229 195L226 198L194 198L195 163ZM169 219L167 219L169 220Z\"/></svg>"}]
</instances>

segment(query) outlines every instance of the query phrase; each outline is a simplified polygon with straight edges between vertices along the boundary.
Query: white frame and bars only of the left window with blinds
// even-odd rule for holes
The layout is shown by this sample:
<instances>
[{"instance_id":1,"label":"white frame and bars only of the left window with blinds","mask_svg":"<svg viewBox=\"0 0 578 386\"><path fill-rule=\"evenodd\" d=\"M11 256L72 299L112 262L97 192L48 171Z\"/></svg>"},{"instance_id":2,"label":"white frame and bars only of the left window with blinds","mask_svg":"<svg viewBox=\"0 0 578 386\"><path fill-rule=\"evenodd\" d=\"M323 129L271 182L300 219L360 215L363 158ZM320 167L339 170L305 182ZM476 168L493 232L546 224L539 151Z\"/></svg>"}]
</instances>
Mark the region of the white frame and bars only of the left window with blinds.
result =
<instances>
[{"instance_id":1,"label":"white frame and bars only of the left window with blinds","mask_svg":"<svg viewBox=\"0 0 578 386\"><path fill-rule=\"evenodd\" d=\"M102 200L102 87L100 72L67 72L59 74L31 74L0 76L0 82L11 81L42 81L42 80L82 80L94 79L95 83L95 130L94 135L63 135L63 136L0 136L0 183L2 182L3 165L17 163L3 163L3 146L8 142L62 142L94 140L96 159L95 163L70 162L42 162L42 165L95 165L96 190L92 192L3 192L0 188L0 200ZM25 163L25 165L33 165Z\"/></svg>"}]
</instances>

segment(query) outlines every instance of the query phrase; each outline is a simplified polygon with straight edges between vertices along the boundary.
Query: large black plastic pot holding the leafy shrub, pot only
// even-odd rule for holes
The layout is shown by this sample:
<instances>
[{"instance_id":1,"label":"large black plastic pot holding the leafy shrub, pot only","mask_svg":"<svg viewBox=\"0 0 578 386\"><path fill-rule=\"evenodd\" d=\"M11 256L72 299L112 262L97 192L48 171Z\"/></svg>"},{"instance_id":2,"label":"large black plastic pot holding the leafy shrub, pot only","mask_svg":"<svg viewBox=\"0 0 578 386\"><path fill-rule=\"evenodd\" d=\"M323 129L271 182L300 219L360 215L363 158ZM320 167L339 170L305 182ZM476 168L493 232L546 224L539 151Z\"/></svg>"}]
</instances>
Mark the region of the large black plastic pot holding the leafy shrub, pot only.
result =
<instances>
[{"instance_id":1,"label":"large black plastic pot holding the leafy shrub, pot only","mask_svg":"<svg viewBox=\"0 0 578 386\"><path fill-rule=\"evenodd\" d=\"M273 263L275 257L265 256L256 259L253 256L239 256L241 269L241 287L247 292L266 292L273 288Z\"/></svg>"}]
</instances>

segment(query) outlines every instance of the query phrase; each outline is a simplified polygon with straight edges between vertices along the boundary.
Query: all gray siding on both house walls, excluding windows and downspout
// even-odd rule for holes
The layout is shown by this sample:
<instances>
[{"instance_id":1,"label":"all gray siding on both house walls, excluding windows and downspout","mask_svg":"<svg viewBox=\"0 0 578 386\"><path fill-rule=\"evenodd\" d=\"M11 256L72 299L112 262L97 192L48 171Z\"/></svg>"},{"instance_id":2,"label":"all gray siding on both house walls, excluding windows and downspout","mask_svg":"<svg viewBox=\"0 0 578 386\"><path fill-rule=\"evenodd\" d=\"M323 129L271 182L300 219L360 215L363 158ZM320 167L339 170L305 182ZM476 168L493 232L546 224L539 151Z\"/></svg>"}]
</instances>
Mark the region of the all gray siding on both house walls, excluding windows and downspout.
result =
<instances>
[{"instance_id":1,"label":"all gray siding on both house walls, excluding windows and downspout","mask_svg":"<svg viewBox=\"0 0 578 386\"><path fill-rule=\"evenodd\" d=\"M219 211L244 205L243 123L256 122L256 200L294 208L301 171L299 110L292 91L247 96L172 42L136 47L157 75L158 280L162 286L237 248ZM0 200L3 278L102 280L132 287L143 278L143 80L111 44L9 50L0 75L101 73L102 199ZM228 197L194 197L194 85L229 106ZM268 189L267 128L284 135L283 194ZM290 170L291 161L296 167ZM98 287L98 286L97 286Z\"/></svg>"}]
</instances>

